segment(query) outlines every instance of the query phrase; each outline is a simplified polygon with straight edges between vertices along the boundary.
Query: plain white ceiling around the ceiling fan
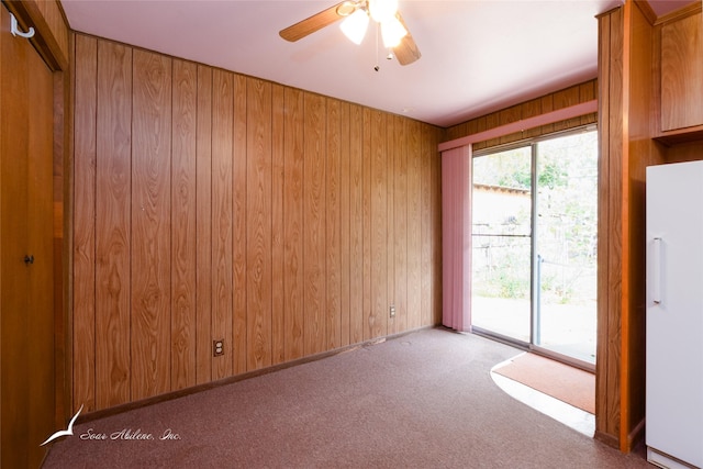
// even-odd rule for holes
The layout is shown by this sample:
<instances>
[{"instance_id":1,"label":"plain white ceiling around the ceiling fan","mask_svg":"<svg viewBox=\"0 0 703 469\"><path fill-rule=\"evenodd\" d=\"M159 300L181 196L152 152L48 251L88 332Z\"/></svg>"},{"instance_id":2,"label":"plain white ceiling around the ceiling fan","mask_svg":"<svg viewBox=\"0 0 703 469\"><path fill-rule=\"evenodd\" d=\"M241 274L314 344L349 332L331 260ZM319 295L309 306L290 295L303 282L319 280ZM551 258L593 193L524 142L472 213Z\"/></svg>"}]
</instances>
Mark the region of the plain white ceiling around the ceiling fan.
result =
<instances>
[{"instance_id":1,"label":"plain white ceiling around the ceiling fan","mask_svg":"<svg viewBox=\"0 0 703 469\"><path fill-rule=\"evenodd\" d=\"M386 59L338 23L278 32L339 0L63 0L98 36L449 126L596 76L595 15L622 0L400 0L422 58ZM692 0L652 1L658 14ZM700 0L694 0L700 1ZM373 70L379 65L379 71Z\"/></svg>"}]
</instances>

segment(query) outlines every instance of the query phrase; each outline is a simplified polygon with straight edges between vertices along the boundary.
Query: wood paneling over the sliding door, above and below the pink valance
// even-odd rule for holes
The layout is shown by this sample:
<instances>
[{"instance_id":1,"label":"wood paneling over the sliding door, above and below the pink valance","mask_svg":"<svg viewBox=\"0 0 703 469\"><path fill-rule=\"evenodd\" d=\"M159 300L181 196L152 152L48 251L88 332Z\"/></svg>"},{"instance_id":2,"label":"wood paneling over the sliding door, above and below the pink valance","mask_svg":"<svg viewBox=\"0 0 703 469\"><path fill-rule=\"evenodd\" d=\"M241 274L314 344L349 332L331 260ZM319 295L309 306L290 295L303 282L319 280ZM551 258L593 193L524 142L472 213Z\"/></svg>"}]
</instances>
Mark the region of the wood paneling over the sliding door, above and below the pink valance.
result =
<instances>
[{"instance_id":1,"label":"wood paneling over the sliding door, above and below the pink valance","mask_svg":"<svg viewBox=\"0 0 703 469\"><path fill-rule=\"evenodd\" d=\"M515 104L511 108L481 115L461 124L454 125L447 129L445 141L453 141L455 138L472 135L479 132L491 130L493 127L510 124L512 122L522 121L523 119L534 118L535 115L540 115L547 112L557 111L562 108L568 108L570 105L592 101L596 98L598 80L589 80L583 83L574 85L572 87L565 88L562 90L555 91L553 93L545 94L543 97L525 101L520 104ZM505 135L499 138L492 138L487 142L478 142L472 145L472 148L476 152L496 145L504 145L525 138L533 138L540 135L551 134L554 132L566 131L569 129L578 127L580 125L593 124L596 121L598 114L592 113L563 122L557 122L554 124L529 129L524 132L516 132L514 134Z\"/></svg>"}]
</instances>

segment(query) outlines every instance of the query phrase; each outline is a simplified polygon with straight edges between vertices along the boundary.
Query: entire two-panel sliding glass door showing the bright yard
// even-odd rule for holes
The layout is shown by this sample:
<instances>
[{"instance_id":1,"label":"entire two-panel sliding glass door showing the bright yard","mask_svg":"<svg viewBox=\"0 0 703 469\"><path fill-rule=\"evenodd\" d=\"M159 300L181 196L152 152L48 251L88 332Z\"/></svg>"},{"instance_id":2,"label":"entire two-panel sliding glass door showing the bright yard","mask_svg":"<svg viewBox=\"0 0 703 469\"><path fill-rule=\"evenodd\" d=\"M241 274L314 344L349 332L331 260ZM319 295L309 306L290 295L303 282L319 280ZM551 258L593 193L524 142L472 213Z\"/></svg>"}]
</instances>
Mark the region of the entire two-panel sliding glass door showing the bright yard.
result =
<instances>
[{"instance_id":1,"label":"entire two-panel sliding glass door showing the bright yard","mask_svg":"<svg viewBox=\"0 0 703 469\"><path fill-rule=\"evenodd\" d=\"M598 132L476 153L472 330L593 370Z\"/></svg>"}]
</instances>

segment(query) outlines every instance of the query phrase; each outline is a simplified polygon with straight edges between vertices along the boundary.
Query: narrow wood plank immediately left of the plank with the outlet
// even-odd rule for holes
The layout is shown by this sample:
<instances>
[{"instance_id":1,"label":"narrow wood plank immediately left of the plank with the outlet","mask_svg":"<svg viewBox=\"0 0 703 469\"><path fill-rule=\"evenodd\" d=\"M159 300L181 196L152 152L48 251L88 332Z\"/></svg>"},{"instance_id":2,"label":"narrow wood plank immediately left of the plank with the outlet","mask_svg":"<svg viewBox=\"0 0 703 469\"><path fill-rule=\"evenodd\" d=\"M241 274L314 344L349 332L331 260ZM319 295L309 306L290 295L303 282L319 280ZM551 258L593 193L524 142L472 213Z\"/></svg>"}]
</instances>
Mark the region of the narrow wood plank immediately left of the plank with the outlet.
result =
<instances>
[{"instance_id":1,"label":"narrow wood plank immediately left of the plank with the outlet","mask_svg":"<svg viewBox=\"0 0 703 469\"><path fill-rule=\"evenodd\" d=\"M212 380L212 68L198 66L196 141L197 365L198 384Z\"/></svg>"}]
</instances>

